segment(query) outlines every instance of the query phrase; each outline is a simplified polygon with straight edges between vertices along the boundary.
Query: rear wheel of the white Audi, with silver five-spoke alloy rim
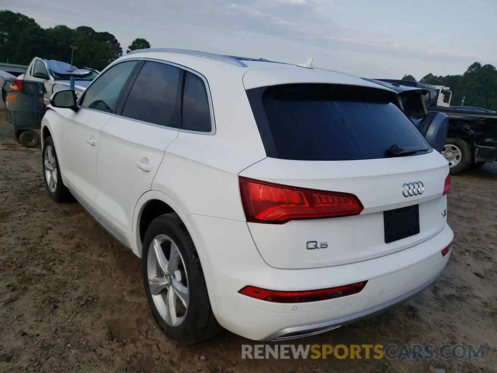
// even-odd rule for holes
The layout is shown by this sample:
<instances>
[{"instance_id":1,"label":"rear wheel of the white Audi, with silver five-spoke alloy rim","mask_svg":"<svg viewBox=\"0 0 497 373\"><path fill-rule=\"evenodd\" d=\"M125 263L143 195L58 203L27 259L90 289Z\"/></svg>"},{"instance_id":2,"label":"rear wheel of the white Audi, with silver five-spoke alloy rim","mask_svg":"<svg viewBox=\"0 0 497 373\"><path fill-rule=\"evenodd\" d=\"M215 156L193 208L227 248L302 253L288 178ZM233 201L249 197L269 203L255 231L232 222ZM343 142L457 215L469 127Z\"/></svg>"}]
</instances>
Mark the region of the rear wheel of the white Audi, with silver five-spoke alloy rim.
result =
<instances>
[{"instance_id":1,"label":"rear wheel of the white Audi, with silver five-spoke alloy rim","mask_svg":"<svg viewBox=\"0 0 497 373\"><path fill-rule=\"evenodd\" d=\"M166 271L161 269L154 249L154 242L161 241L157 248L163 256L163 268ZM179 256L173 253L179 253ZM171 255L177 259L171 260ZM161 215L150 224L143 241L142 270L152 314L168 338L182 345L190 345L214 337L222 330L212 313L195 245L177 214ZM154 278L153 295L150 279ZM182 294L187 302L181 302L177 294ZM171 299L175 300L172 312L166 305ZM186 310L184 304L187 304Z\"/></svg>"}]
</instances>

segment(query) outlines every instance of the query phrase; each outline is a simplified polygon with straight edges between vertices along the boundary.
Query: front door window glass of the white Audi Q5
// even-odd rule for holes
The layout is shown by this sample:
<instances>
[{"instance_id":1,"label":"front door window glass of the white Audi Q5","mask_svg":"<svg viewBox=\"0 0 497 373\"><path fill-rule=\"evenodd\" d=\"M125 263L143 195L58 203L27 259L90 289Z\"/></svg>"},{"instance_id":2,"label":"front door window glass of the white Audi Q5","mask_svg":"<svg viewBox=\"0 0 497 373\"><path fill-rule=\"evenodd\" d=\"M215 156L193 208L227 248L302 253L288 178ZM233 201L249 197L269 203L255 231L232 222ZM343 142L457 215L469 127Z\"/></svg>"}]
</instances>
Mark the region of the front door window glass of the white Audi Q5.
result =
<instances>
[{"instance_id":1,"label":"front door window glass of the white Audi Q5","mask_svg":"<svg viewBox=\"0 0 497 373\"><path fill-rule=\"evenodd\" d=\"M117 98L137 63L138 61L126 61L112 66L88 87L81 106L108 113L115 112Z\"/></svg>"}]
</instances>

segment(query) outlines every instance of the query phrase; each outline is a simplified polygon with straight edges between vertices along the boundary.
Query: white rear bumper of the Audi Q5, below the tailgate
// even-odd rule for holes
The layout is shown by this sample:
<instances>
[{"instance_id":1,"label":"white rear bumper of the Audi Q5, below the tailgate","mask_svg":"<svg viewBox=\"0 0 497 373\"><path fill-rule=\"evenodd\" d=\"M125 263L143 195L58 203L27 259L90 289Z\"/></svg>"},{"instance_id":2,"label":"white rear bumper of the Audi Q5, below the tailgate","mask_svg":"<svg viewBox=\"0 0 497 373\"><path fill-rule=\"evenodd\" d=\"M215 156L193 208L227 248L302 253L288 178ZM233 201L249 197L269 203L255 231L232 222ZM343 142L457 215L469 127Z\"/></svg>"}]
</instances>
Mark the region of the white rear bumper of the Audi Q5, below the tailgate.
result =
<instances>
[{"instance_id":1,"label":"white rear bumper of the Audi Q5, below the tailgate","mask_svg":"<svg viewBox=\"0 0 497 373\"><path fill-rule=\"evenodd\" d=\"M322 333L372 316L430 285L450 253L441 250L454 235L448 225L431 239L380 258L340 266L284 270L263 261L247 223L190 215L202 266L208 267L216 318L226 329L252 340L284 340ZM275 247L275 250L278 250ZM272 303L238 291L246 285L272 290L313 290L368 280L357 294L309 303Z\"/></svg>"}]
</instances>

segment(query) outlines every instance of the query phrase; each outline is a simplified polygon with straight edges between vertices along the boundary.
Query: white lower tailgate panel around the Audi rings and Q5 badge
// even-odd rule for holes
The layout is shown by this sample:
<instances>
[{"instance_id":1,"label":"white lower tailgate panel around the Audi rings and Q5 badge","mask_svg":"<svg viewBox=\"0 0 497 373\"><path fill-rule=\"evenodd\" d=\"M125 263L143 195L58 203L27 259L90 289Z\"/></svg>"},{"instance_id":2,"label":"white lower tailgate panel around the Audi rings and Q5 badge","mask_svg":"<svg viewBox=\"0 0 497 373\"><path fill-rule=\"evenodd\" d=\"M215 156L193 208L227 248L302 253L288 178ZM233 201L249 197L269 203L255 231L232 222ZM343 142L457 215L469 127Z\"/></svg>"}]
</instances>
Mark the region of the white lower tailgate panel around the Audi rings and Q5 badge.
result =
<instances>
[{"instance_id":1,"label":"white lower tailgate panel around the Audi rings and Q5 badge","mask_svg":"<svg viewBox=\"0 0 497 373\"><path fill-rule=\"evenodd\" d=\"M364 161L289 161L266 158L240 176L275 184L356 195L364 206L357 216L293 220L286 224L248 223L266 262L276 268L328 267L368 260L417 245L447 222L442 197L447 164L431 152L408 157ZM406 198L404 183L422 180L424 192ZM383 211L419 204L420 233L385 244ZM306 242L327 242L327 249L307 250Z\"/></svg>"}]
</instances>

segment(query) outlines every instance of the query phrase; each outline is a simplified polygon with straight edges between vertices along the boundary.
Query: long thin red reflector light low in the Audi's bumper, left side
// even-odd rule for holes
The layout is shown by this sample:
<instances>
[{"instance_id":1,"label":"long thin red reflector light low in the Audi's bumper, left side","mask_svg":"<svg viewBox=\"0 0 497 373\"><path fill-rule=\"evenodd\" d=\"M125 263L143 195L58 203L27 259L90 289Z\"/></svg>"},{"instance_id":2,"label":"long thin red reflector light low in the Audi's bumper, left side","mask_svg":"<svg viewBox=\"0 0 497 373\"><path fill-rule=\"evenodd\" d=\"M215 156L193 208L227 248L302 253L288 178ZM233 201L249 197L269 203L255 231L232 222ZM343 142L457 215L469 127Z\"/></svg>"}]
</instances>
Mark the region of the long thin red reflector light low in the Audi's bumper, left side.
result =
<instances>
[{"instance_id":1,"label":"long thin red reflector light low in the Audi's bumper, left side","mask_svg":"<svg viewBox=\"0 0 497 373\"><path fill-rule=\"evenodd\" d=\"M357 294L366 286L367 282L368 281L362 281L351 283L350 285L305 291L277 291L261 289L255 286L245 286L239 293L247 295L250 298L274 303L316 302L318 300L334 299L346 295Z\"/></svg>"}]
</instances>

